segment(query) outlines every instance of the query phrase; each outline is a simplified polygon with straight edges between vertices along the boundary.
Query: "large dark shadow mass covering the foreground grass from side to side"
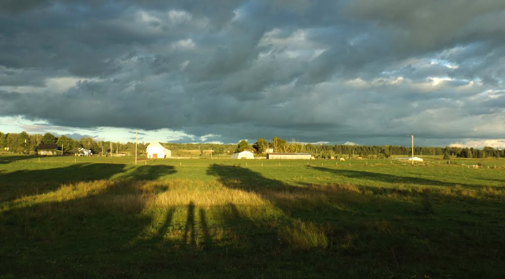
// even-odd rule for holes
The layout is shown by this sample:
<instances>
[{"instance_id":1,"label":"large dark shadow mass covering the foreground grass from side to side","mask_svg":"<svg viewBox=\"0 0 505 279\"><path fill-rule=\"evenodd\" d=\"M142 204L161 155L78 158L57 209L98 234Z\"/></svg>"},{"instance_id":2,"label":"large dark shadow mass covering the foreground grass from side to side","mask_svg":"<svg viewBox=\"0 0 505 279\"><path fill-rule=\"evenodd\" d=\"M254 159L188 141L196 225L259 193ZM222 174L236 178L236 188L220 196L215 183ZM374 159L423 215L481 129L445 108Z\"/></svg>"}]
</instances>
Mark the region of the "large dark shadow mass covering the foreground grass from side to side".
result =
<instances>
[{"instance_id":1,"label":"large dark shadow mass covering the foreground grass from side to side","mask_svg":"<svg viewBox=\"0 0 505 279\"><path fill-rule=\"evenodd\" d=\"M267 201L260 207L271 203L285 217L271 219L268 211L263 213L267 218L262 211L252 216L249 204L198 208L190 201L155 208L162 212L157 221L150 212L153 208L146 210L156 195L146 193L142 181L113 180L94 195L2 212L0 274L146 278L502 274L499 223L475 228L468 222L447 229L443 226L447 220L432 221L438 217L431 213L409 219L412 211L405 208L413 206L412 200L360 199L363 193L352 188L297 187L246 168L217 165L208 171L226 187L257 193ZM335 206L341 200L349 203L347 209ZM209 221L211 214L220 223ZM333 246L293 247L298 244L285 242L286 234L304 238L312 233L310 226L303 228L309 223L316 231L330 227L323 233ZM216 226L224 231L221 240L213 240ZM489 230L494 238L485 237ZM174 231L180 234L171 235Z\"/></svg>"}]
</instances>

